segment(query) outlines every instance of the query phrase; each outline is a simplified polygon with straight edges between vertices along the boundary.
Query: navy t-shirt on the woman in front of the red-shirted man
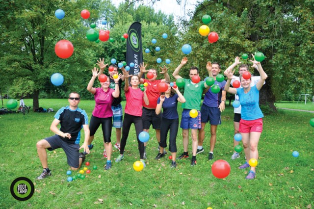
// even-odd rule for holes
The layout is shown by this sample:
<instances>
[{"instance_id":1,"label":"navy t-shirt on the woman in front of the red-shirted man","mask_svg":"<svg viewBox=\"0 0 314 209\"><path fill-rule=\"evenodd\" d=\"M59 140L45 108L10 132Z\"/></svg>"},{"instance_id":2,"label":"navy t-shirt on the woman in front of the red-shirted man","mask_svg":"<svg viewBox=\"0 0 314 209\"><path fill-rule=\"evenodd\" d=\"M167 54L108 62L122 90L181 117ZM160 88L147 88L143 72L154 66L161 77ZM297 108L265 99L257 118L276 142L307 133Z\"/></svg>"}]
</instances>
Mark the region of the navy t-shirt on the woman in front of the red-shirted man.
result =
<instances>
[{"instance_id":1,"label":"navy t-shirt on the woman in front of the red-shirted man","mask_svg":"<svg viewBox=\"0 0 314 209\"><path fill-rule=\"evenodd\" d=\"M179 114L178 114L178 94L173 95L172 97L165 97L165 101L163 101L162 103L162 108L163 108L163 112L162 112L162 117L172 120L172 119L177 119L179 118ZM157 100L157 104L160 103L160 98L158 98Z\"/></svg>"}]
</instances>

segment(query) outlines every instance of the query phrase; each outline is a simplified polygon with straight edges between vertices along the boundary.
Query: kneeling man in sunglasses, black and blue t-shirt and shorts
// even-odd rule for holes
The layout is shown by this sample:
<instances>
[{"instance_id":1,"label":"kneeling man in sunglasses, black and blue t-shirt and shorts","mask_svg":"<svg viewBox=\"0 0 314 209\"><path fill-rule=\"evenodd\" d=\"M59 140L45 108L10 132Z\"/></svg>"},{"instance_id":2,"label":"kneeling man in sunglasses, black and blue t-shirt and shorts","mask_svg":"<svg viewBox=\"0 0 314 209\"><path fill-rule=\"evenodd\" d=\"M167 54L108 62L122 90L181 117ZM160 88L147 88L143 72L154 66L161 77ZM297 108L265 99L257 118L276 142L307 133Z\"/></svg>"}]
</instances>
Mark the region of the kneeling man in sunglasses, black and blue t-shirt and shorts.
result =
<instances>
[{"instance_id":1,"label":"kneeling man in sunglasses, black and blue t-shirt and shorts","mask_svg":"<svg viewBox=\"0 0 314 209\"><path fill-rule=\"evenodd\" d=\"M48 168L46 149L52 151L62 148L72 170L78 170L85 159L85 155L79 153L81 148L84 148L84 152L90 153L88 149L88 117L85 110L78 108L79 94L76 92L70 93L68 101L69 105L62 107L54 115L50 130L54 132L55 135L42 139L36 144L38 157L44 168L43 173L36 178L37 180L52 175L51 170ZM59 124L61 125L60 130L57 128ZM79 147L80 130L82 126L85 132L85 138L83 145Z\"/></svg>"}]
</instances>

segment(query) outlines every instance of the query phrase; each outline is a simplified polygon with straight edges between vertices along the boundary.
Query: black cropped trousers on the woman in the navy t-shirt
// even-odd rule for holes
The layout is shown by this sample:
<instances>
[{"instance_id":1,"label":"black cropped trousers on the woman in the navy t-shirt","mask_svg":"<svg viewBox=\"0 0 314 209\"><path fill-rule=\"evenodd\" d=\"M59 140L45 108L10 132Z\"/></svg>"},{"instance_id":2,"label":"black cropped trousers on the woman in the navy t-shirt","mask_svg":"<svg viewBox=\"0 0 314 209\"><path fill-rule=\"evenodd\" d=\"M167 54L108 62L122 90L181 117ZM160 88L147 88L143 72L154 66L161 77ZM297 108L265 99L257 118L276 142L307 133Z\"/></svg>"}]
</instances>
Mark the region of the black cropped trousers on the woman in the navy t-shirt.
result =
<instances>
[{"instance_id":1,"label":"black cropped trousers on the woman in the navy t-shirt","mask_svg":"<svg viewBox=\"0 0 314 209\"><path fill-rule=\"evenodd\" d=\"M177 119L167 119L162 118L161 120L161 129L160 129L160 147L167 147L167 135L168 131L170 130L170 137L169 137L169 151L172 153L177 152L177 134L179 129L179 118Z\"/></svg>"}]
</instances>

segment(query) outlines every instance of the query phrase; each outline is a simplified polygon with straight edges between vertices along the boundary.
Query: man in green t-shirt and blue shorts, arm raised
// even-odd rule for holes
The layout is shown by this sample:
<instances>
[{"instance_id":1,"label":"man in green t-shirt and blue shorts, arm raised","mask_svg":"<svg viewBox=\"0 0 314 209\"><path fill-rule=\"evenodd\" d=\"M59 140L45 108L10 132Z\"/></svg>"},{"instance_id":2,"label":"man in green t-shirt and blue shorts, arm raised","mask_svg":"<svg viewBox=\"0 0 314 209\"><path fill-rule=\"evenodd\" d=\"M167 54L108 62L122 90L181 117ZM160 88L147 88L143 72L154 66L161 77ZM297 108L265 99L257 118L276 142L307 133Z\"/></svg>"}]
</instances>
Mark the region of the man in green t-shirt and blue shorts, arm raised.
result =
<instances>
[{"instance_id":1,"label":"man in green t-shirt and blue shorts, arm raised","mask_svg":"<svg viewBox=\"0 0 314 209\"><path fill-rule=\"evenodd\" d=\"M183 57L181 64L177 67L177 69L173 72L172 76L176 79L182 78L179 76L179 72L181 68L186 64L187 58ZM208 62L208 65L211 63ZM209 76L211 76L211 72L209 72ZM183 148L184 152L179 157L179 159L187 158L188 157L188 133L191 129L191 136L192 136L192 160L191 165L196 165L196 151L197 151L197 133L198 130L201 129L201 115L200 115L200 109L201 109L201 99L204 89L208 88L209 86L204 82L200 81L198 83L192 82L193 76L198 76L198 68L195 66L192 66L189 70L189 77L190 79L184 79L185 85L184 85L184 98L186 100L185 103L182 104L182 118L181 118L181 125L180 128L182 128L182 135L183 135ZM196 109L198 111L198 115L195 118L192 118L190 116L191 109Z\"/></svg>"}]
</instances>

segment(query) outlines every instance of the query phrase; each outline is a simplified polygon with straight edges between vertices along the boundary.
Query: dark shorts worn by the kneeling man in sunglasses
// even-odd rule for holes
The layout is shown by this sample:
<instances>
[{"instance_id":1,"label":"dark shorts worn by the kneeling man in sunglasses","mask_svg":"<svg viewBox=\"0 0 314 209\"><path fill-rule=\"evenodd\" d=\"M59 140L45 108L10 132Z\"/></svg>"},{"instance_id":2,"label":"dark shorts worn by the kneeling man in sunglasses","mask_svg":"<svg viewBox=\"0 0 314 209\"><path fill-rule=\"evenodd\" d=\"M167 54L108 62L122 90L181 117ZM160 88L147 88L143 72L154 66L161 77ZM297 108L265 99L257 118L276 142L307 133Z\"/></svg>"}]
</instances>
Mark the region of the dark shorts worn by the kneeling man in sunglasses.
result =
<instances>
[{"instance_id":1,"label":"dark shorts worn by the kneeling man in sunglasses","mask_svg":"<svg viewBox=\"0 0 314 209\"><path fill-rule=\"evenodd\" d=\"M78 168L79 166L79 144L69 144L64 140L60 139L58 135L54 135L48 138L45 138L46 141L50 144L51 148L48 148L49 151L53 151L58 148L62 148L65 152L65 155L68 158L68 164L71 167Z\"/></svg>"}]
</instances>

